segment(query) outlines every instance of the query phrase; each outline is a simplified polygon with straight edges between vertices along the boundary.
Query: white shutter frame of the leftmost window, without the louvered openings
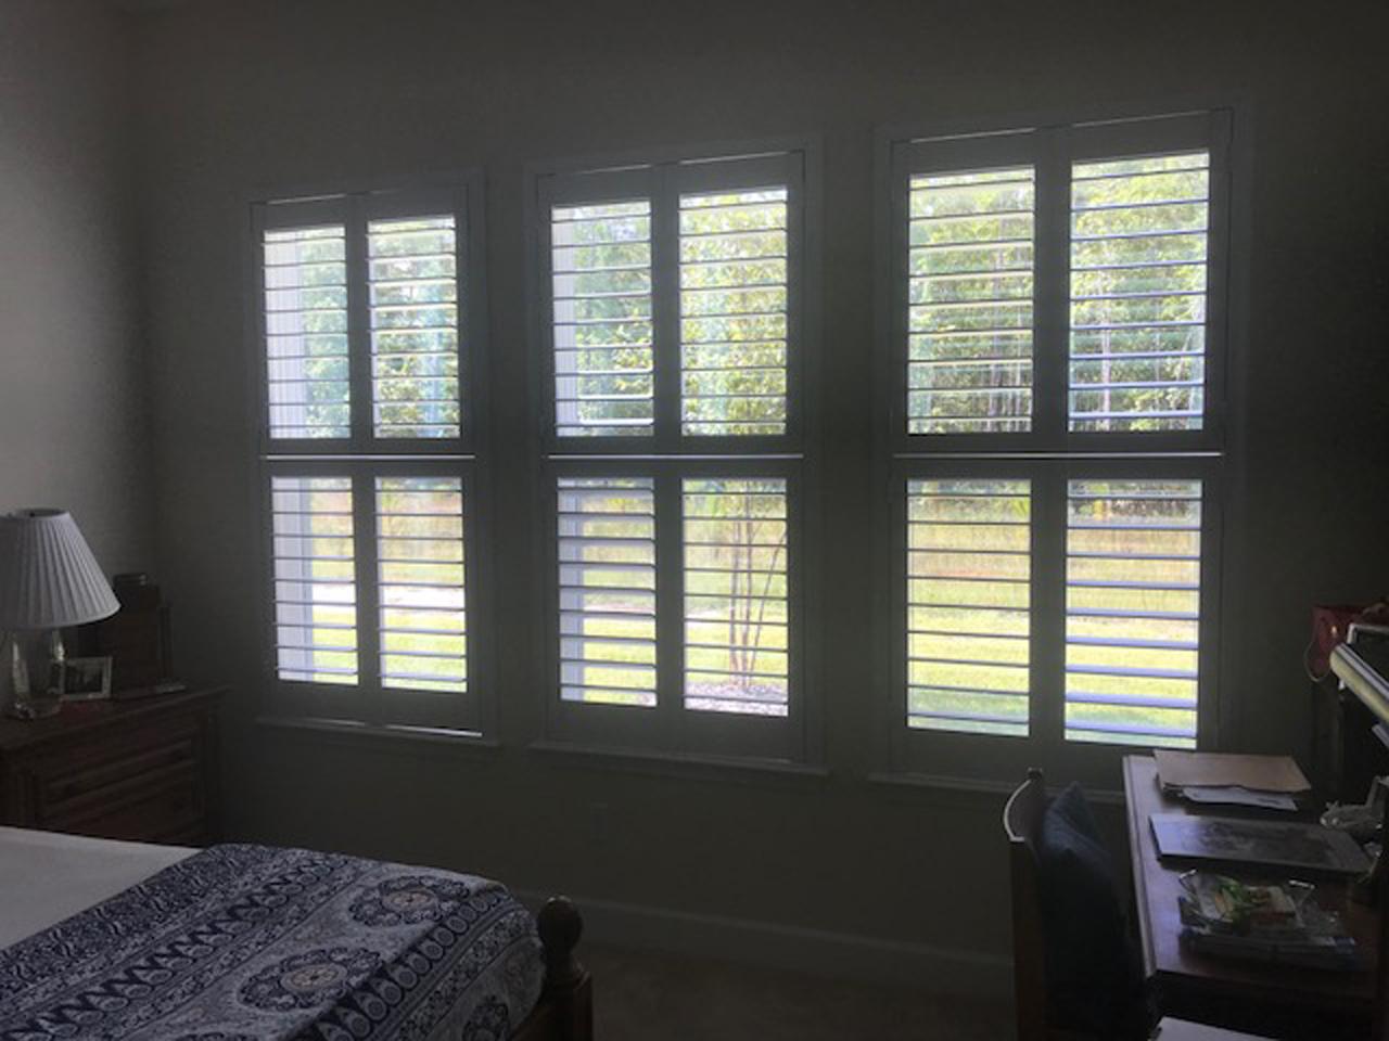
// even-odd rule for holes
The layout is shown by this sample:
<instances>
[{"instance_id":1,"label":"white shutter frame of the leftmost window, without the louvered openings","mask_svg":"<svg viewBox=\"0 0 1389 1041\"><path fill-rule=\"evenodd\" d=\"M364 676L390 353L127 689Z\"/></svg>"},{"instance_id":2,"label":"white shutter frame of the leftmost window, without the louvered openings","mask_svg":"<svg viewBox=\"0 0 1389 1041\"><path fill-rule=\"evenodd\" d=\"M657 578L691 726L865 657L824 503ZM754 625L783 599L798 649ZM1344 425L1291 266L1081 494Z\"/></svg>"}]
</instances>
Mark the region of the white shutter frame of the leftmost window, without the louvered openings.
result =
<instances>
[{"instance_id":1,"label":"white shutter frame of the leftmost window, without the louvered openings","mask_svg":"<svg viewBox=\"0 0 1389 1041\"><path fill-rule=\"evenodd\" d=\"M311 189L257 190L242 204L246 223L247 340L251 371L250 443L254 465L253 504L260 550L260 641L263 719L340 726L363 731L436 734L490 741L497 725L494 700L494 615L492 537L490 408L488 393L486 197L481 169L396 182L343 183ZM457 437L378 437L369 278L368 226L372 221L451 215L456 229L458 286ZM263 244L269 230L342 223L346 232L347 365L350 434L347 437L274 439L269 436L269 362L265 339ZM357 683L331 686L282 680L276 661L275 548L272 477L344 476L353 490L353 545L357 587ZM467 618L467 690L435 693L385 687L378 640L376 486L381 476L458 477L464 516L464 602Z\"/></svg>"}]
</instances>

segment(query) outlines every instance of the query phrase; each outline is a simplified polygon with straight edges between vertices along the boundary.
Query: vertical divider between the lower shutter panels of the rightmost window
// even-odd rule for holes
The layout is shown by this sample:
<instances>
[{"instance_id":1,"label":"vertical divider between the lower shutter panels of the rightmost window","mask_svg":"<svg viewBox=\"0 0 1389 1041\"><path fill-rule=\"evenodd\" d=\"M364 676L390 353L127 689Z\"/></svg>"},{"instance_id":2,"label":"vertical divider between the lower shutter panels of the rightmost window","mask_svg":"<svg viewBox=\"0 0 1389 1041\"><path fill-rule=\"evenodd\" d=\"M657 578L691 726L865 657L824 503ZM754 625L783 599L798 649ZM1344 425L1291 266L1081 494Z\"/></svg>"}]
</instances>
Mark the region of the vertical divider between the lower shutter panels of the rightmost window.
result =
<instances>
[{"instance_id":1,"label":"vertical divider between the lower shutter panels of the rightmost window","mask_svg":"<svg viewBox=\"0 0 1389 1041\"><path fill-rule=\"evenodd\" d=\"M1032 476L1031 733L1040 747L1065 734L1065 472L1043 462Z\"/></svg>"}]
</instances>

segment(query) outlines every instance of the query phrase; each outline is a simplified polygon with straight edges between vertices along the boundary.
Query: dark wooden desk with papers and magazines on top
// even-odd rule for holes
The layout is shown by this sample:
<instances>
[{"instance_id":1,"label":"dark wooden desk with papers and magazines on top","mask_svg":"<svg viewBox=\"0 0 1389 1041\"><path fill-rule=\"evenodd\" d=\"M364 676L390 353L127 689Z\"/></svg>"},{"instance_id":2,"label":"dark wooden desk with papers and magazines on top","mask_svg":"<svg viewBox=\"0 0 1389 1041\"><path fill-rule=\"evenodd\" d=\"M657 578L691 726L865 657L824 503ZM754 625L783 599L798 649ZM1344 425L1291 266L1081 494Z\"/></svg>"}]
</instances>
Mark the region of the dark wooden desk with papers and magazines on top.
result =
<instances>
[{"instance_id":1,"label":"dark wooden desk with papers and magazines on top","mask_svg":"<svg viewBox=\"0 0 1389 1041\"><path fill-rule=\"evenodd\" d=\"M1286 1038L1370 1037L1375 997L1379 917L1374 908L1349 901L1349 884L1317 879L1325 904L1339 911L1367 952L1370 965L1357 973L1261 965L1210 958L1185 951L1179 942L1181 916L1176 897L1182 872L1192 861L1161 861L1149 824L1151 813L1203 813L1268 818L1275 811L1242 811L1238 806L1197 808L1165 797L1157 784L1151 756L1124 759L1124 794L1128 805L1129 863L1143 947L1143 969L1156 988L1163 1015ZM1247 867L1228 866L1232 876L1257 879ZM1288 874L1265 874L1276 881Z\"/></svg>"}]
</instances>

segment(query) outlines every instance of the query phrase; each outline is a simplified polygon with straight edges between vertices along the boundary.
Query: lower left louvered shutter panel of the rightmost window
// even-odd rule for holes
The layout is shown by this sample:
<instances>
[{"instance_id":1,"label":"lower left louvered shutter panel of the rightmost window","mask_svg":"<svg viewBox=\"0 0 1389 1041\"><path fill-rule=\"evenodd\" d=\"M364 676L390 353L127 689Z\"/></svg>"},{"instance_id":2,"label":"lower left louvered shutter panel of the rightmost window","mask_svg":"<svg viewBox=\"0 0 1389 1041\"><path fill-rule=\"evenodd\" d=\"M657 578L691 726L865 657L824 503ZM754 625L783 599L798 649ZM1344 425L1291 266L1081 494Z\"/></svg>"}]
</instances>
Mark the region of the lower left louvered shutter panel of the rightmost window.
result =
<instances>
[{"instance_id":1,"label":"lower left louvered shutter panel of the rightmost window","mask_svg":"<svg viewBox=\"0 0 1389 1041\"><path fill-rule=\"evenodd\" d=\"M1026 480L907 482L907 725L1026 736Z\"/></svg>"}]
</instances>

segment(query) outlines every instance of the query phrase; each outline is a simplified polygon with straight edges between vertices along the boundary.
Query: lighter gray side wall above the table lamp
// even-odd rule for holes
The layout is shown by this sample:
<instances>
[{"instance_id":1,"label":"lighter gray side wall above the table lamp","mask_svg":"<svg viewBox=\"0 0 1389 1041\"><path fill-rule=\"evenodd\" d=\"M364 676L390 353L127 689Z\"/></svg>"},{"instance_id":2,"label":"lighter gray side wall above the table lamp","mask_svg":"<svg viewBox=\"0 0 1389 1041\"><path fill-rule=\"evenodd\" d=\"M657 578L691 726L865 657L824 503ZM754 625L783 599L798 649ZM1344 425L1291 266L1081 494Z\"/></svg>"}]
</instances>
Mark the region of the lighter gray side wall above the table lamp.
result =
<instances>
[{"instance_id":1,"label":"lighter gray side wall above the table lamp","mask_svg":"<svg viewBox=\"0 0 1389 1041\"><path fill-rule=\"evenodd\" d=\"M0 3L0 509L71 509L108 572L153 565L128 51L104 6Z\"/></svg>"}]
</instances>

